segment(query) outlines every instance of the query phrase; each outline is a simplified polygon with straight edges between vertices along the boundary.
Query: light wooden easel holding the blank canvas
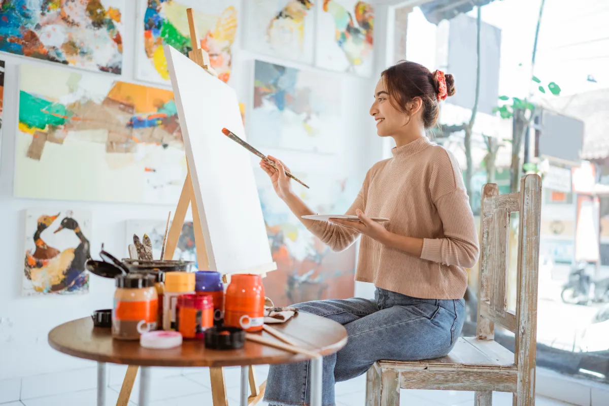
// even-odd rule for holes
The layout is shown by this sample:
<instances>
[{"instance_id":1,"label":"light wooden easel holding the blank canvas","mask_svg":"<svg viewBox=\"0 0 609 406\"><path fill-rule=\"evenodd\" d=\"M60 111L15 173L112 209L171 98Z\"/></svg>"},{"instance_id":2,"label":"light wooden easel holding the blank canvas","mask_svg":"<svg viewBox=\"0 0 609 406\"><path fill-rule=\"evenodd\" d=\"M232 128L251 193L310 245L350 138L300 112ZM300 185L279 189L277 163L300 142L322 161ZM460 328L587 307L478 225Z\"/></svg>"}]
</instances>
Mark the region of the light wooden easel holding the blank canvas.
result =
<instances>
[{"instance_id":1,"label":"light wooden easel holding the blank canvas","mask_svg":"<svg viewBox=\"0 0 609 406\"><path fill-rule=\"evenodd\" d=\"M188 57L201 68L205 69L206 72L217 77L217 72L209 63L208 53L200 47L201 41L199 39L199 30L197 30L197 26L194 21L193 10L186 9L186 15L188 16L188 26L190 29L192 43L192 51L188 52ZM180 239L181 229L184 224L184 220L186 219L186 212L188 211L189 205L191 205L192 208L192 226L194 228L195 249L197 250L197 263L200 269L208 269L209 260L207 250L205 248L205 239L203 238L199 210L197 209L197 204L195 203L194 188L192 186L190 169L188 169L188 173L186 174L184 186L182 187L182 191L180 193L180 200L178 200L178 206L174 212L174 219L172 220L171 228L167 234L167 243L163 259L173 259L174 257L175 248L177 247L178 240ZM264 277L264 275L262 276ZM228 277L228 275L222 276L225 283L228 282ZM127 406L138 369L139 367L137 365L128 366L116 406ZM213 399L213 406L228 406L224 369L222 367L210 367L209 379L211 380L211 396ZM261 401L262 397L264 396L264 389L266 388L266 381L262 382L262 385L258 385L253 365L250 366L249 383L250 396L248 397L248 406L253 406Z\"/></svg>"}]
</instances>

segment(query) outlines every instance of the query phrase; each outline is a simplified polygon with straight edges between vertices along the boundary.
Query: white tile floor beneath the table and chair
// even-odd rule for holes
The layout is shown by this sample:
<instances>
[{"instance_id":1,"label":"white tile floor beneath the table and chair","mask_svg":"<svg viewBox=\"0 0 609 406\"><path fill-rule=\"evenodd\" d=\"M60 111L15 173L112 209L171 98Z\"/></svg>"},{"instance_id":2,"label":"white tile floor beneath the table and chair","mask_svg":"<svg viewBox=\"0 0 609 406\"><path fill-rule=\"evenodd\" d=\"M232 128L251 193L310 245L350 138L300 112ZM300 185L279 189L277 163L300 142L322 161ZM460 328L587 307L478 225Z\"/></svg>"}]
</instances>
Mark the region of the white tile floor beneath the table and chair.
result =
<instances>
[{"instance_id":1,"label":"white tile floor beneath the table and chair","mask_svg":"<svg viewBox=\"0 0 609 406\"><path fill-rule=\"evenodd\" d=\"M121 389L126 367L108 368L106 406L114 406ZM268 366L257 366L260 382L266 379ZM95 406L96 368L79 369L56 374L38 375L0 381L1 406ZM227 392L230 406L239 405L239 368L226 368ZM152 368L150 385L152 406L211 405L211 388L207 368ZM130 399L138 404L139 376ZM19 400L20 399L20 400ZM336 385L337 406L364 406L365 376ZM401 406L465 406L473 405L473 392L402 390ZM570 405L565 402L537 397L537 406ZM261 406L267 406L259 403ZM494 406L511 406L512 394L493 393Z\"/></svg>"}]
</instances>

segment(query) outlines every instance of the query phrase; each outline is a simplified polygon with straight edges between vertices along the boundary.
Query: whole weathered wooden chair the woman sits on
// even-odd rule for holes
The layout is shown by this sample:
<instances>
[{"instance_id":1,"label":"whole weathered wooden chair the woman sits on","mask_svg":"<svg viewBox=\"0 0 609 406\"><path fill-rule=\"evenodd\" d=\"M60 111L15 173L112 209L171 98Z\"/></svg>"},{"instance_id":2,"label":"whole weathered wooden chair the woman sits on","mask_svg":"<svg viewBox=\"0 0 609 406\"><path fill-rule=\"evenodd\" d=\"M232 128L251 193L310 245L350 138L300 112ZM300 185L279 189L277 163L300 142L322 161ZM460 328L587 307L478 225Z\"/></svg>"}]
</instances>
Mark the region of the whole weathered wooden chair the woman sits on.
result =
<instances>
[{"instance_id":1,"label":"whole weathered wooden chair the woman sits on","mask_svg":"<svg viewBox=\"0 0 609 406\"><path fill-rule=\"evenodd\" d=\"M510 212L520 212L516 312L506 309ZM537 273L541 178L526 175L518 193L499 195L485 184L481 207L481 257L477 337L460 337L446 357L379 361L367 374L366 405L397 406L400 388L475 391L474 404L491 405L493 391L512 392L515 406L535 404ZM515 354L493 340L495 324L515 334Z\"/></svg>"}]
</instances>

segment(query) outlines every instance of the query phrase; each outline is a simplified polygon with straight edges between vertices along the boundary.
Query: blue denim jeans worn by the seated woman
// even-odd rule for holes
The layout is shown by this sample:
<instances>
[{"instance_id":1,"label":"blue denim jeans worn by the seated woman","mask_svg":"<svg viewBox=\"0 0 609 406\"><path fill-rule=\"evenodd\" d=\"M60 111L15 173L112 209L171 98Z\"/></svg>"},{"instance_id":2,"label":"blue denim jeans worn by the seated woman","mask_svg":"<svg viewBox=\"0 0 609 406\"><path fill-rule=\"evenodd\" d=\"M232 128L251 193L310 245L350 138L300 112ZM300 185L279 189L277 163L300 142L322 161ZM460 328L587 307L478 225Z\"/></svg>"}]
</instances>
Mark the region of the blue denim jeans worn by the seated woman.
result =
<instances>
[{"instance_id":1,"label":"blue denim jeans worn by the seated woman","mask_svg":"<svg viewBox=\"0 0 609 406\"><path fill-rule=\"evenodd\" d=\"M451 351L465 320L465 301L417 299L376 288L375 301L352 298L295 305L347 329L347 345L323 357L322 404L334 405L334 383L353 379L378 360L423 360ZM271 365L264 401L273 406L309 405L309 362Z\"/></svg>"}]
</instances>

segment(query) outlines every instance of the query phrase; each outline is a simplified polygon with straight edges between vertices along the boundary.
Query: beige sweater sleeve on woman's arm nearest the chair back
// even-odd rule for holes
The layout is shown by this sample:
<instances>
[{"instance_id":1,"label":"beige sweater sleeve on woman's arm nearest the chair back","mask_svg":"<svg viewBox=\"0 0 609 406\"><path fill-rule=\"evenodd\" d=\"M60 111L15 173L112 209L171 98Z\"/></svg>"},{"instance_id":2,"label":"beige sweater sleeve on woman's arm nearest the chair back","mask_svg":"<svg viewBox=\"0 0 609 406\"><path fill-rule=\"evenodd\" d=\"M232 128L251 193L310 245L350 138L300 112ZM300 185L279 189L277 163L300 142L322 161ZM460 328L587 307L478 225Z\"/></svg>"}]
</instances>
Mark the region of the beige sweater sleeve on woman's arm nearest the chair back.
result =
<instances>
[{"instance_id":1,"label":"beige sweater sleeve on woman's arm nearest the chair back","mask_svg":"<svg viewBox=\"0 0 609 406\"><path fill-rule=\"evenodd\" d=\"M421 258L471 268L479 254L478 235L470 201L456 159L448 153L432 171L430 194L442 221L441 238L423 239Z\"/></svg>"}]
</instances>

